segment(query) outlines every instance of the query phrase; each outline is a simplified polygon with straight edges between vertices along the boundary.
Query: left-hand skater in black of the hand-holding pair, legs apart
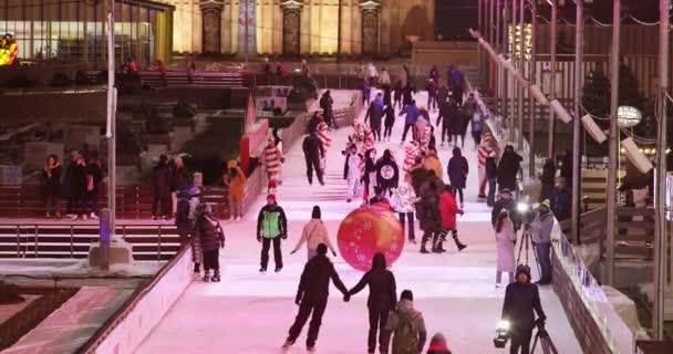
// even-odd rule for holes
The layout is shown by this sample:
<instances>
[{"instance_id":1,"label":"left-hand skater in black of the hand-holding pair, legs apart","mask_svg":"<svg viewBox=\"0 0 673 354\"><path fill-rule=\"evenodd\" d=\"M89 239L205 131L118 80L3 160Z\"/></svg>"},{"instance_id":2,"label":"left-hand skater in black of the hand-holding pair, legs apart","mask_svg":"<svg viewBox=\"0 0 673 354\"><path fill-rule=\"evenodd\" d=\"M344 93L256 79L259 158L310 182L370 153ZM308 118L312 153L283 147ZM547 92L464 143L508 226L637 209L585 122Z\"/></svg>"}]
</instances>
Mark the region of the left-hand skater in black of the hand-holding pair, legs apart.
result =
<instances>
[{"instance_id":1,"label":"left-hand skater in black of the hand-holding pair, legs apart","mask_svg":"<svg viewBox=\"0 0 673 354\"><path fill-rule=\"evenodd\" d=\"M350 298L345 285L334 270L334 264L327 257L328 247L324 243L318 244L315 253L317 256L309 260L301 273L297 296L294 298L294 303L299 305L299 312L290 327L288 340L282 345L283 351L289 350L294 344L309 316L311 316L311 323L307 335L307 351L310 353L315 351L315 341L330 294L330 280L343 293L344 301L348 302Z\"/></svg>"}]
</instances>

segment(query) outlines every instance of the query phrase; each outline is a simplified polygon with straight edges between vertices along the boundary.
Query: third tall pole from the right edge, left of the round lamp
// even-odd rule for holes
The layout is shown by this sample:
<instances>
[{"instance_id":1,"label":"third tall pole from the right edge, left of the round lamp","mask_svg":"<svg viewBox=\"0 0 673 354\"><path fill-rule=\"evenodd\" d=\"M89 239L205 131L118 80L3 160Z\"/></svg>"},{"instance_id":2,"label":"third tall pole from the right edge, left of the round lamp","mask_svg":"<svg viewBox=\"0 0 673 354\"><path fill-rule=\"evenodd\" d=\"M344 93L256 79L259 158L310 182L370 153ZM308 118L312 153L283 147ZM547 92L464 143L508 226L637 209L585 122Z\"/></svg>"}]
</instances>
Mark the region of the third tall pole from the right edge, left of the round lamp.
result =
<instances>
[{"instance_id":1,"label":"third tall pole from the right edge, left of the round lamp","mask_svg":"<svg viewBox=\"0 0 673 354\"><path fill-rule=\"evenodd\" d=\"M584 34L584 4L583 0L574 0L576 28L574 28L574 119L572 121L572 210L570 221L572 222L572 240L579 244L580 241L580 118L582 116L582 55Z\"/></svg>"}]
</instances>

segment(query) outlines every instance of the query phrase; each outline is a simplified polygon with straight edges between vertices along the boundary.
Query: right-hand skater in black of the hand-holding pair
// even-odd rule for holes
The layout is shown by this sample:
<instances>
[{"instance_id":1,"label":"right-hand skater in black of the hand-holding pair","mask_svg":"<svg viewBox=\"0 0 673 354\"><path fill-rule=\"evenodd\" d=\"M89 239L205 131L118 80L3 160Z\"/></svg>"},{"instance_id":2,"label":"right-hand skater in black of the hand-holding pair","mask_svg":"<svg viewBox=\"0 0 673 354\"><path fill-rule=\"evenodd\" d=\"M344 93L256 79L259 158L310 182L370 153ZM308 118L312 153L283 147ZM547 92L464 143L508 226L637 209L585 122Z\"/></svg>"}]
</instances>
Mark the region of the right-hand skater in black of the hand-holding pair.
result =
<instances>
[{"instance_id":1,"label":"right-hand skater in black of the hand-holding pair","mask_svg":"<svg viewBox=\"0 0 673 354\"><path fill-rule=\"evenodd\" d=\"M387 270L385 256L376 252L372 259L372 269L364 273L360 282L349 291L346 299L370 287L370 295L366 306L370 313L370 331L367 335L367 353L376 351L376 333L379 333L379 346L385 348L385 324L390 312L397 303L395 275Z\"/></svg>"}]
</instances>

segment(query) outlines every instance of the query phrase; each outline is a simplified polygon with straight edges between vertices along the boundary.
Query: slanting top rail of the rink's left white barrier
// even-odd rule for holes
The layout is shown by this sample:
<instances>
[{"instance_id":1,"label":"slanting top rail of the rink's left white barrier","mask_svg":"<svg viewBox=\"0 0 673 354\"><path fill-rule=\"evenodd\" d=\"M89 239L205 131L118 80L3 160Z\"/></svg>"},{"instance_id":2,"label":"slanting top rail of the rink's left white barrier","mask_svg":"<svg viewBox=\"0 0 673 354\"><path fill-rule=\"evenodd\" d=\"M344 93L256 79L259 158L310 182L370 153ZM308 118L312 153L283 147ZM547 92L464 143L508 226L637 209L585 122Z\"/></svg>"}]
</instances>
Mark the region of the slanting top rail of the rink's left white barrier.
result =
<instances>
[{"instance_id":1,"label":"slanting top rail of the rink's left white barrier","mask_svg":"<svg viewBox=\"0 0 673 354\"><path fill-rule=\"evenodd\" d=\"M180 249L180 251L166 264L164 264L158 272L154 275L151 282L143 284L139 289L137 289L132 295L131 300L128 300L120 310L117 310L110 319L105 321L103 326L101 326L94 335L84 343L84 345L77 350L77 353L95 353L96 347L107 337L107 335L123 321L126 316L135 309L138 302L147 294L156 284L162 280L162 278L183 258L188 254L187 252L191 252L191 247L186 246Z\"/></svg>"}]
</instances>

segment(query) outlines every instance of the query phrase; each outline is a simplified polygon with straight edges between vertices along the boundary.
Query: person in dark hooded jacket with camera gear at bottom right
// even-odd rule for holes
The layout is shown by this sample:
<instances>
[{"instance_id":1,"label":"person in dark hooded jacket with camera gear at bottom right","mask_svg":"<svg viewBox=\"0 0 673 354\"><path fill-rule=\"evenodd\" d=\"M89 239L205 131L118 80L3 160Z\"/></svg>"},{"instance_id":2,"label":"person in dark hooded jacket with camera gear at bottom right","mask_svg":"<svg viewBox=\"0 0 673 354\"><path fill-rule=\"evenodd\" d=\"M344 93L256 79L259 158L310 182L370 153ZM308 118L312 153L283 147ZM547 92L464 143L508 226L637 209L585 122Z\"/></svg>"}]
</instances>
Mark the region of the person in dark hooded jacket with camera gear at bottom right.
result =
<instances>
[{"instance_id":1,"label":"person in dark hooded jacket with camera gear at bottom right","mask_svg":"<svg viewBox=\"0 0 673 354\"><path fill-rule=\"evenodd\" d=\"M535 320L535 312L538 320ZM530 268L525 264L517 267L516 282L507 285L503 303L503 320L509 322L509 353L530 353L530 337L536 322L543 324L547 316L540 304L538 287L530 283Z\"/></svg>"}]
</instances>

